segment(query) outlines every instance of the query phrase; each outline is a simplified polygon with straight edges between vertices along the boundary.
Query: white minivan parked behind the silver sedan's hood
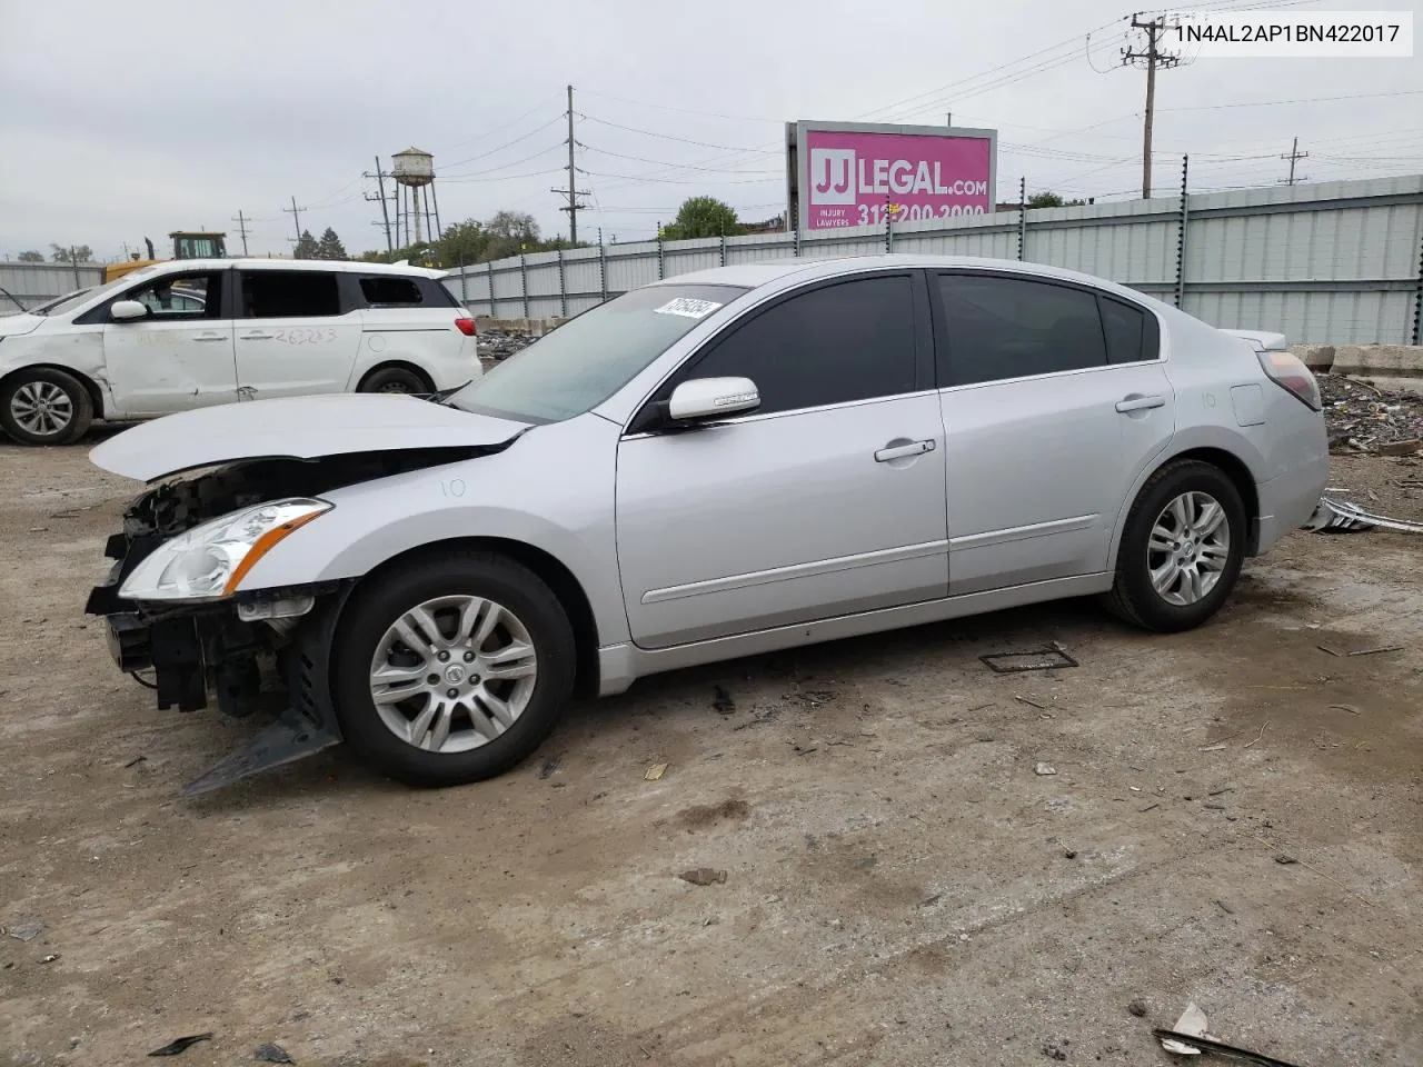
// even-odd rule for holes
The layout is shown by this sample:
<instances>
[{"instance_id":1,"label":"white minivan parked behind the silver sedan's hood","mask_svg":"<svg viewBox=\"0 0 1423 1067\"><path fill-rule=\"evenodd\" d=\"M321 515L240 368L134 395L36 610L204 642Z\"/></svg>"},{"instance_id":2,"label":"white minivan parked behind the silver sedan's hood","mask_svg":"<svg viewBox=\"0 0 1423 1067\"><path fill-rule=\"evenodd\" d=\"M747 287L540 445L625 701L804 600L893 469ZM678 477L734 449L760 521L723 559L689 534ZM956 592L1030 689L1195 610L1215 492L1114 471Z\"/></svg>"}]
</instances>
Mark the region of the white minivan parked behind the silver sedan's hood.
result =
<instances>
[{"instance_id":1,"label":"white minivan parked behind the silver sedan's hood","mask_svg":"<svg viewBox=\"0 0 1423 1067\"><path fill-rule=\"evenodd\" d=\"M71 444L94 418L245 400L437 393L480 376L474 317L407 265L155 263L0 319L0 428Z\"/></svg>"}]
</instances>

